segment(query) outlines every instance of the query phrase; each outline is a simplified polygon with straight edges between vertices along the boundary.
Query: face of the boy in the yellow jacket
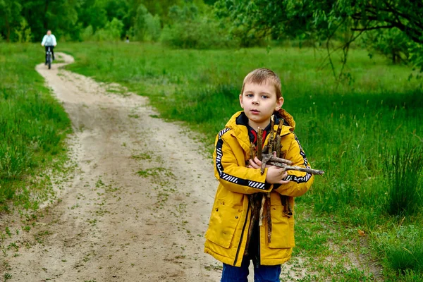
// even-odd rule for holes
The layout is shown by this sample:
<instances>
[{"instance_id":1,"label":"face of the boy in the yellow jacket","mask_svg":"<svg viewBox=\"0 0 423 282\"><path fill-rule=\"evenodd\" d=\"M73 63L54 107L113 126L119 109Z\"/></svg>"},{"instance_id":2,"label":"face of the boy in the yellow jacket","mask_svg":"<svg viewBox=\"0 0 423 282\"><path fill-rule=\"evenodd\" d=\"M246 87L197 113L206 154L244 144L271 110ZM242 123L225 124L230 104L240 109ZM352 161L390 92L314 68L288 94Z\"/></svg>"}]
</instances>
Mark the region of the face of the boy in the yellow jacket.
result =
<instances>
[{"instance_id":1,"label":"face of the boy in the yellow jacket","mask_svg":"<svg viewBox=\"0 0 423 282\"><path fill-rule=\"evenodd\" d=\"M276 98L274 85L269 82L262 85L245 83L240 94L240 104L249 119L252 128L266 128L274 111L281 109L283 98Z\"/></svg>"}]
</instances>

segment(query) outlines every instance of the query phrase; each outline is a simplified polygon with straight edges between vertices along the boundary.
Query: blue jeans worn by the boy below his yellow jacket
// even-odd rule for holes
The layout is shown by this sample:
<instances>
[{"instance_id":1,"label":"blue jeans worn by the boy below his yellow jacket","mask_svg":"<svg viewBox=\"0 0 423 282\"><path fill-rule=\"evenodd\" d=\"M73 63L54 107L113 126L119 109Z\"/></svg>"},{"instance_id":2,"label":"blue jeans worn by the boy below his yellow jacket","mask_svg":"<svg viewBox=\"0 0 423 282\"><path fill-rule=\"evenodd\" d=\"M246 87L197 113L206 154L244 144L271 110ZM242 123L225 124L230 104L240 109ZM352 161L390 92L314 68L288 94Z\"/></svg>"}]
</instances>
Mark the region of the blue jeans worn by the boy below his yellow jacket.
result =
<instances>
[{"instance_id":1,"label":"blue jeans worn by the boy below his yellow jacket","mask_svg":"<svg viewBox=\"0 0 423 282\"><path fill-rule=\"evenodd\" d=\"M257 265L255 259L254 264L254 281L255 282L279 282L281 276L281 265ZM250 257L245 256L241 267L223 264L221 282L248 282L248 266L250 266Z\"/></svg>"}]
</instances>

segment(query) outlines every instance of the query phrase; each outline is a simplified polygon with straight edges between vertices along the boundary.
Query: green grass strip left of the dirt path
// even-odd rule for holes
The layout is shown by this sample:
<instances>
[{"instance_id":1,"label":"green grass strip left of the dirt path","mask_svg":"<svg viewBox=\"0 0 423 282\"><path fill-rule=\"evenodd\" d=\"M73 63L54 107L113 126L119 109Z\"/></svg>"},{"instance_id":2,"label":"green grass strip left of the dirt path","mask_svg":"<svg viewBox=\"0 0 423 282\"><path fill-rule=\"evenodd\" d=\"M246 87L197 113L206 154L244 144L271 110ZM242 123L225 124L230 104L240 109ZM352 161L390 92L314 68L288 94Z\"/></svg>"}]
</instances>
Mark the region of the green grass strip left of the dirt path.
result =
<instances>
[{"instance_id":1,"label":"green grass strip left of the dirt path","mask_svg":"<svg viewBox=\"0 0 423 282\"><path fill-rule=\"evenodd\" d=\"M0 212L37 209L49 181L42 171L66 155L68 116L35 71L43 53L38 44L0 44Z\"/></svg>"}]
</instances>

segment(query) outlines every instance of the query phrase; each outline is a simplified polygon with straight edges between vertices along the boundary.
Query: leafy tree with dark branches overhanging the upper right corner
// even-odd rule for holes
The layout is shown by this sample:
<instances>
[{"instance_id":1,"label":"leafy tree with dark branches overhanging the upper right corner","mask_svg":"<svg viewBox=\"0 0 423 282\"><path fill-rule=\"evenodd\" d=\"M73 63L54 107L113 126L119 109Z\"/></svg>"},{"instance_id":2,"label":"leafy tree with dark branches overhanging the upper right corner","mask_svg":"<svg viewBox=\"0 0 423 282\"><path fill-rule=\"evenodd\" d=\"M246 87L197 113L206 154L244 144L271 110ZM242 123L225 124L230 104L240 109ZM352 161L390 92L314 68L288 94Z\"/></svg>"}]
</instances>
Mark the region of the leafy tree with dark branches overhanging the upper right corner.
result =
<instances>
[{"instance_id":1,"label":"leafy tree with dark branches overhanging the upper right corner","mask_svg":"<svg viewBox=\"0 0 423 282\"><path fill-rule=\"evenodd\" d=\"M421 1L219 0L215 6L218 16L229 17L234 25L245 26L250 32L262 32L262 36L329 42L339 35L348 35L339 47L345 51L345 56L350 43L363 32L372 30L399 30L407 39L408 49L414 50L415 55L423 44ZM385 37L393 39L389 33ZM420 60L416 58L422 56L411 58L417 63ZM419 66L423 68L423 64Z\"/></svg>"}]
</instances>

